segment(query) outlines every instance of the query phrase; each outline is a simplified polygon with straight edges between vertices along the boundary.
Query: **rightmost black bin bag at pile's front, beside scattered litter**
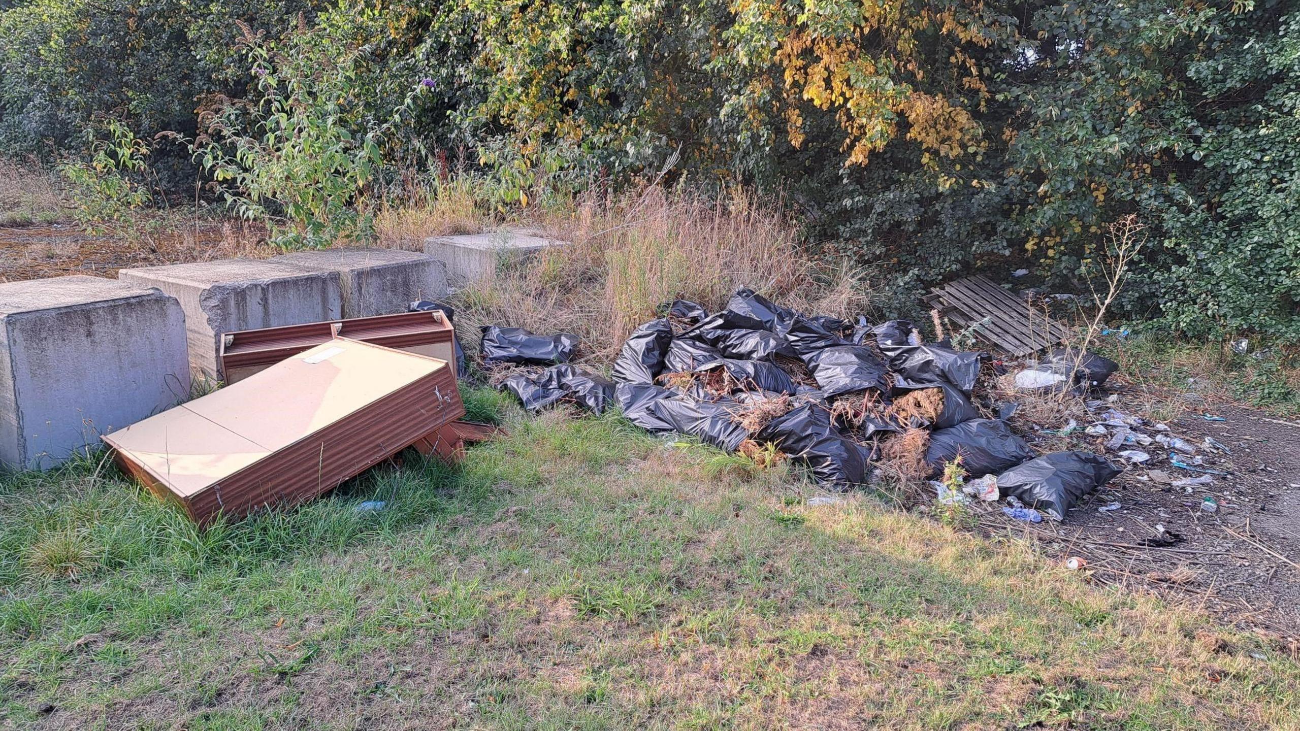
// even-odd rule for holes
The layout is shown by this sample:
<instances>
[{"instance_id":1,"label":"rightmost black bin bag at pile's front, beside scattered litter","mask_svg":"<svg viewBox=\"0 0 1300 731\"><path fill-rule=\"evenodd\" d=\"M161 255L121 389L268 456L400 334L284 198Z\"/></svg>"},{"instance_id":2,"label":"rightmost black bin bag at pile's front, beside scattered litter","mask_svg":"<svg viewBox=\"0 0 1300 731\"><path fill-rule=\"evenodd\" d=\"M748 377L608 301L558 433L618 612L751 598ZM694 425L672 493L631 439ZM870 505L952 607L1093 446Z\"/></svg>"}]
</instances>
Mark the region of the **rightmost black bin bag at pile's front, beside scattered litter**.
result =
<instances>
[{"instance_id":1,"label":"rightmost black bin bag at pile's front, beside scattered litter","mask_svg":"<svg viewBox=\"0 0 1300 731\"><path fill-rule=\"evenodd\" d=\"M1054 451L1022 462L997 476L997 489L1061 520L1086 494L1109 483L1118 470L1091 451Z\"/></svg>"}]
</instances>

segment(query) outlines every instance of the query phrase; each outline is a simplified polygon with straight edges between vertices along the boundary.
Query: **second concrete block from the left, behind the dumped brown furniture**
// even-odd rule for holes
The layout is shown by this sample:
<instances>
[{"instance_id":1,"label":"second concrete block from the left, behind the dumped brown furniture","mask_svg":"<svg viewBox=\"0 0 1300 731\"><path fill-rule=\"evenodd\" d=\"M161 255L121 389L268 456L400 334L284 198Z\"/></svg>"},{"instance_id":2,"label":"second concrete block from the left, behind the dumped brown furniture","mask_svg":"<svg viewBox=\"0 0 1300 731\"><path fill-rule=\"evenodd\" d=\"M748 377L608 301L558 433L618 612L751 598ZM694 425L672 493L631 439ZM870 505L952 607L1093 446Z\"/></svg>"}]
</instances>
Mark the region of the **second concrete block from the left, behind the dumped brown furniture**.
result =
<instances>
[{"instance_id":1,"label":"second concrete block from the left, behind the dumped brown furniture","mask_svg":"<svg viewBox=\"0 0 1300 731\"><path fill-rule=\"evenodd\" d=\"M237 330L338 320L338 272L256 259L220 259L120 269L124 282L157 287L181 303L190 364L221 379L221 336Z\"/></svg>"}]
</instances>

